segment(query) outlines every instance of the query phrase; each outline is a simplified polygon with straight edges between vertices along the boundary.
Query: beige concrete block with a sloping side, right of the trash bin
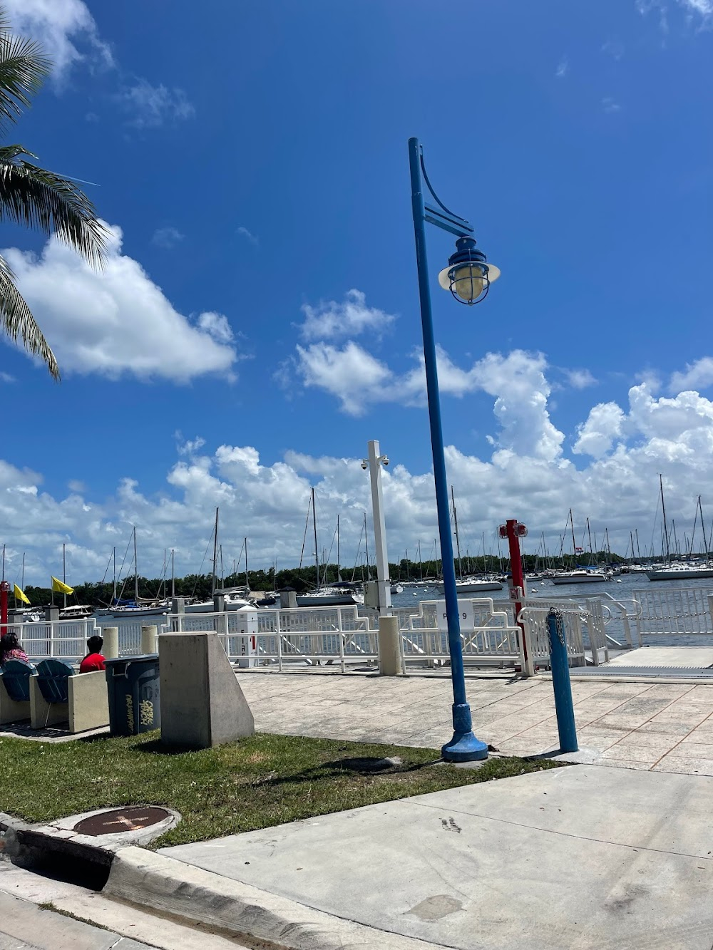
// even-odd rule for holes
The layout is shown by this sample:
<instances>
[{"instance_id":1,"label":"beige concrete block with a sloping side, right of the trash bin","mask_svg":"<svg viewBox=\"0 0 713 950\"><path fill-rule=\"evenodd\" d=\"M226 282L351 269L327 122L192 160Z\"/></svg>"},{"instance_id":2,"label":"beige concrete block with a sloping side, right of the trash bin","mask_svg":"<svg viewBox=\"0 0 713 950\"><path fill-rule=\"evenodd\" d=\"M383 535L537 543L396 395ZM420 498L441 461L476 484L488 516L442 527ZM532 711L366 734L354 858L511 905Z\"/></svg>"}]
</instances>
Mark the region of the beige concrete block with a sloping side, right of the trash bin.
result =
<instances>
[{"instance_id":1,"label":"beige concrete block with a sloping side, right of the trash bin","mask_svg":"<svg viewBox=\"0 0 713 950\"><path fill-rule=\"evenodd\" d=\"M253 714L217 634L162 634L159 666L164 743L207 749L255 732Z\"/></svg>"}]
</instances>

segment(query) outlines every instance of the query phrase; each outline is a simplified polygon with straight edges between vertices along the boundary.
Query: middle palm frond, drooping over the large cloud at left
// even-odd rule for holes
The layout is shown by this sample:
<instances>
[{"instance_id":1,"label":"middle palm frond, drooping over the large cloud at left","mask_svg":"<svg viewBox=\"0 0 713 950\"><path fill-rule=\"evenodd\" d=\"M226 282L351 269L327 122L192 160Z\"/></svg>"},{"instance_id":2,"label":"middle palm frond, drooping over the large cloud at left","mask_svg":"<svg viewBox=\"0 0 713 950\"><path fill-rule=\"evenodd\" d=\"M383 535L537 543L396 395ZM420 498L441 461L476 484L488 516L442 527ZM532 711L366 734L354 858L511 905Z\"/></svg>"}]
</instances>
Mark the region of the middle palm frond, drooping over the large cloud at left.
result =
<instances>
[{"instance_id":1,"label":"middle palm frond, drooping over the large cloud at left","mask_svg":"<svg viewBox=\"0 0 713 950\"><path fill-rule=\"evenodd\" d=\"M25 161L22 145L0 147L0 220L55 234L92 267L102 267L108 232L73 181Z\"/></svg>"}]
</instances>

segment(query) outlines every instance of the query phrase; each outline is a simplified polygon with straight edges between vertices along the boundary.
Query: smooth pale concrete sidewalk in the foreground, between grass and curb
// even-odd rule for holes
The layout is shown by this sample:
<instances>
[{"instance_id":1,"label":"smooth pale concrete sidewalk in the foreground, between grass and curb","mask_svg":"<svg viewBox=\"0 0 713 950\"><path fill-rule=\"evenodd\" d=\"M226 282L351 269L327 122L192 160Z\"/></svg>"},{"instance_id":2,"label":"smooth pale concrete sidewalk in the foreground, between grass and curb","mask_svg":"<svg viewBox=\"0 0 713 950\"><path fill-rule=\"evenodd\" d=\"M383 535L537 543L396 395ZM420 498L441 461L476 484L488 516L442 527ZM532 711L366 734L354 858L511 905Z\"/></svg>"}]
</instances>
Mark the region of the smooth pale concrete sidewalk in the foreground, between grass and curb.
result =
<instances>
[{"instance_id":1,"label":"smooth pale concrete sidewalk in the foreground, between grass and curb","mask_svg":"<svg viewBox=\"0 0 713 950\"><path fill-rule=\"evenodd\" d=\"M164 848L136 883L182 862L171 886L194 911L213 886L222 913L233 883L253 921L265 893L330 915L288 946L710 950L711 795L709 778L574 766ZM376 930L345 939L355 923Z\"/></svg>"}]
</instances>

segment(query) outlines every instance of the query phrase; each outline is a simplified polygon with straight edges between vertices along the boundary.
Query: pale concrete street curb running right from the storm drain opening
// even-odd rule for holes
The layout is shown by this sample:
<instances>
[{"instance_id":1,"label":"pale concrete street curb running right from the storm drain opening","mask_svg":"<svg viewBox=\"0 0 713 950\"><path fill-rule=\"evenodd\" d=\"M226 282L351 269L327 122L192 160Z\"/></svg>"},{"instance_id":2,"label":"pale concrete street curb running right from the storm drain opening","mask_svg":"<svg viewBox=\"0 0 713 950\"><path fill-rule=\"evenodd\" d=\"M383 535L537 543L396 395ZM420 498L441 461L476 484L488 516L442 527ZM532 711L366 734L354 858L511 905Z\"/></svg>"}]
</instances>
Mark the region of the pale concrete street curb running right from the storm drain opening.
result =
<instances>
[{"instance_id":1,"label":"pale concrete street curb running right from the storm drain opening","mask_svg":"<svg viewBox=\"0 0 713 950\"><path fill-rule=\"evenodd\" d=\"M434 944L346 921L175 858L128 846L114 856L102 891L236 936L287 950L433 950Z\"/></svg>"}]
</instances>

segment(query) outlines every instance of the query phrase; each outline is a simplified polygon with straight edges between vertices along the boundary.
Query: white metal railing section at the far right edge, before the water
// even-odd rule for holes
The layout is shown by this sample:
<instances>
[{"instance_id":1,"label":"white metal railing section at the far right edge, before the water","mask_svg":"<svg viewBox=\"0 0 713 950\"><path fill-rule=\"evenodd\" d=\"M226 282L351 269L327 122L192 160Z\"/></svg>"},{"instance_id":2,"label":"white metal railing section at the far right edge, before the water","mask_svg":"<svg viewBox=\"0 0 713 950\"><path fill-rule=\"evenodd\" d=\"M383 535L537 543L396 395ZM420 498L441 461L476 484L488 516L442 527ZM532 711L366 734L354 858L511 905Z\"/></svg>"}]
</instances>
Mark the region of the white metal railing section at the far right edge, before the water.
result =
<instances>
[{"instance_id":1,"label":"white metal railing section at the far right edge, before the water","mask_svg":"<svg viewBox=\"0 0 713 950\"><path fill-rule=\"evenodd\" d=\"M635 590L638 604L634 618L639 646L644 637L713 634L713 587Z\"/></svg>"}]
</instances>

